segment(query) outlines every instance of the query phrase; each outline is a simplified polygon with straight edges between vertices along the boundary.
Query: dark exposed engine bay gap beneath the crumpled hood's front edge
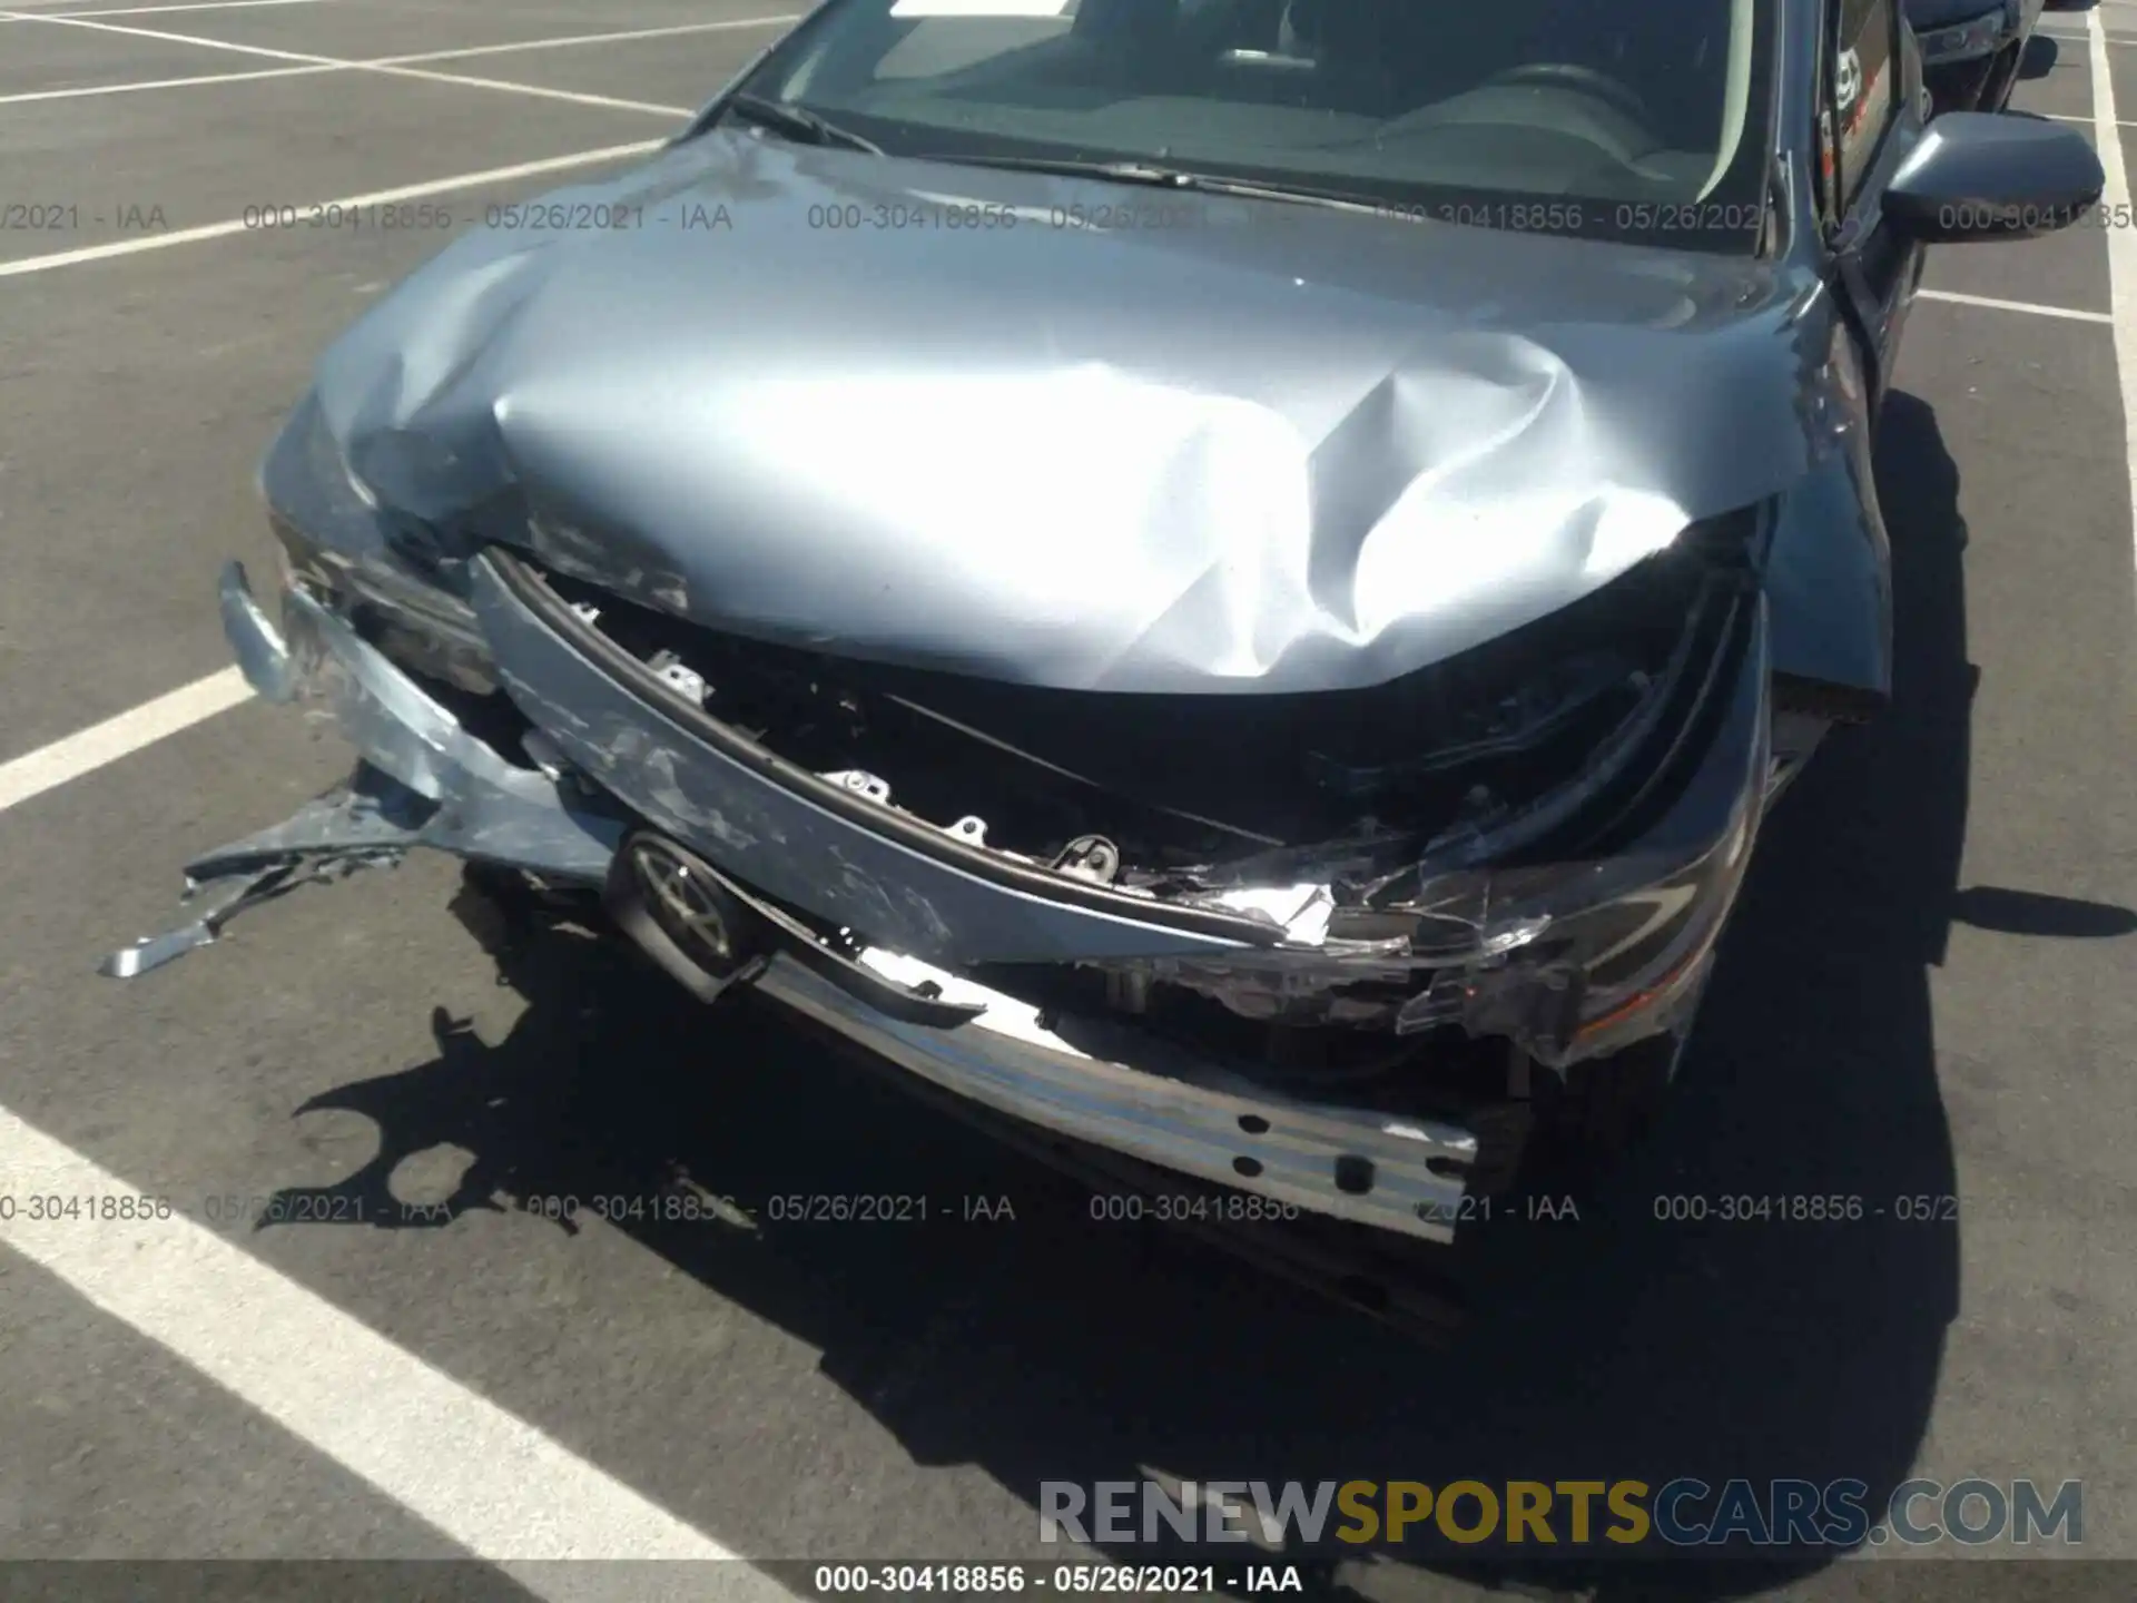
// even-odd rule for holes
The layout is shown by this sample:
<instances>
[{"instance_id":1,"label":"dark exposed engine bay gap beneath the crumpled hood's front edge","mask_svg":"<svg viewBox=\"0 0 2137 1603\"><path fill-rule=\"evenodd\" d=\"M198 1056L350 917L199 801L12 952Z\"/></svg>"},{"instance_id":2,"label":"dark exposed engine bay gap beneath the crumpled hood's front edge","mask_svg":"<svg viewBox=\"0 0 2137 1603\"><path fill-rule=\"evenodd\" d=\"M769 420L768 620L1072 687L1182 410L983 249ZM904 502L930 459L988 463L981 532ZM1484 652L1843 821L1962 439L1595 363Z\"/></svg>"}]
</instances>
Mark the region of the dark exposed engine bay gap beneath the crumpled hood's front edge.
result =
<instances>
[{"instance_id":1,"label":"dark exposed engine bay gap beneath the crumpled hood's front edge","mask_svg":"<svg viewBox=\"0 0 2137 1603\"><path fill-rule=\"evenodd\" d=\"M1263 878L1284 849L1496 827L1645 705L1701 577L1673 551L1393 684L1272 697L1049 690L853 663L549 583L680 695L801 767L855 774L863 795L945 827L977 816L962 834L1028 861L1195 896Z\"/></svg>"}]
</instances>

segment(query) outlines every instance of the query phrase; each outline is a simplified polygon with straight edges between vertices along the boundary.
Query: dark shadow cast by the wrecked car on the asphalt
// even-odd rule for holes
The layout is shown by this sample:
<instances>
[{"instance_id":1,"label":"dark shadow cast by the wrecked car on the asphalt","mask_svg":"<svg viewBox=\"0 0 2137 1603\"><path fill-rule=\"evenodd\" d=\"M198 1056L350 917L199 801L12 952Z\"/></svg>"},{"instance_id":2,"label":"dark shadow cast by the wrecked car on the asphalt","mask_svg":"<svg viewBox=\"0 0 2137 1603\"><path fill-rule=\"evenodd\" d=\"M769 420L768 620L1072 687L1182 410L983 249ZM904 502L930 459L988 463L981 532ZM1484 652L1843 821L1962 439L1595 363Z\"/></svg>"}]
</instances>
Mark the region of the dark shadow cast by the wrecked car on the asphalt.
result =
<instances>
[{"instance_id":1,"label":"dark shadow cast by the wrecked car on the asphalt","mask_svg":"<svg viewBox=\"0 0 2137 1603\"><path fill-rule=\"evenodd\" d=\"M308 1195L363 1199L374 1223L447 1223L519 1197L727 1199L727 1223L673 1225L660 1208L615 1223L818 1347L823 1370L915 1462L983 1466L1030 1505L1021 1530L970 1532L964 1545L992 1554L1041 1552L1043 1481L1697 1477L1763 1494L1776 1479L1851 1479L1878 1509L1923 1436L1957 1306L1957 1227L1934 1203L1955 1171L1928 970L1960 908L2052 925L2103 917L1957 896L1972 697L1957 472L1910 395L1889 402L1878 464L1896 705L1840 731L1769 819L1654 1141L1577 1220L1515 1203L1472 1235L1472 1312L1447 1351L1167 1227L1094 1218L1103 1205L1075 1182L825 1052L767 1005L707 1017L633 953L479 908L470 925L526 1013L498 1045L440 1013L434 1060L321 1099L372 1118L383 1143ZM438 1210L397 1212L395 1167L438 1146L472 1154L457 1190ZM816 1197L921 1199L925 1218L906 1203L898 1220L810 1223ZM1793 1220L1797 1197L1840 1216ZM1915 1212L1930 1218L1900 1216ZM791 1552L784 1507L727 1509L718 1535ZM1712 1500L1686 1505L1688 1520L1707 1513ZM1445 1573L1592 1588L1605 1603L1742 1594L1836 1556L1776 1547L1746 1571L1669 1550L1680 1562L1654 1565L1641 1558L1652 1543L1569 1552L1562 1513L1554 1524L1556 1552L1423 1543L1419 1526L1400 1547L1323 1541L1286 1556L1314 1565L1321 1592L1421 1597L1425 1575ZM974 1556L938 1545L917 1539L898 1556ZM1752 1554L1742 1541L1705 1552ZM1263 1558L1182 1545L1113 1556Z\"/></svg>"}]
</instances>

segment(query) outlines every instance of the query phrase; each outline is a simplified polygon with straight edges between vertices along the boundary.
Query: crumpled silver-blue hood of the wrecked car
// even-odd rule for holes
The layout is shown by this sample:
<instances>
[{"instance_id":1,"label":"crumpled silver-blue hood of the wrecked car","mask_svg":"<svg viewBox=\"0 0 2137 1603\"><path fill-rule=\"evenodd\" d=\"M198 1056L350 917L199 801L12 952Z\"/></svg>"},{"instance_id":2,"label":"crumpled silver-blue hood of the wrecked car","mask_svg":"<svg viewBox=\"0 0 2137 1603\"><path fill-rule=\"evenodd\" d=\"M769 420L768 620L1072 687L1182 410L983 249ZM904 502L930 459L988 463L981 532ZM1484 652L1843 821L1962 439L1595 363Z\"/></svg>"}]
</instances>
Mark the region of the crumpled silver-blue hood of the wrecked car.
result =
<instances>
[{"instance_id":1,"label":"crumpled silver-blue hood of the wrecked car","mask_svg":"<svg viewBox=\"0 0 2137 1603\"><path fill-rule=\"evenodd\" d=\"M353 477L648 605L857 658L1090 690L1378 684L1577 601L1816 449L1814 284L1748 259L727 128L547 199L564 227L455 242L323 357ZM930 227L938 203L981 227Z\"/></svg>"}]
</instances>

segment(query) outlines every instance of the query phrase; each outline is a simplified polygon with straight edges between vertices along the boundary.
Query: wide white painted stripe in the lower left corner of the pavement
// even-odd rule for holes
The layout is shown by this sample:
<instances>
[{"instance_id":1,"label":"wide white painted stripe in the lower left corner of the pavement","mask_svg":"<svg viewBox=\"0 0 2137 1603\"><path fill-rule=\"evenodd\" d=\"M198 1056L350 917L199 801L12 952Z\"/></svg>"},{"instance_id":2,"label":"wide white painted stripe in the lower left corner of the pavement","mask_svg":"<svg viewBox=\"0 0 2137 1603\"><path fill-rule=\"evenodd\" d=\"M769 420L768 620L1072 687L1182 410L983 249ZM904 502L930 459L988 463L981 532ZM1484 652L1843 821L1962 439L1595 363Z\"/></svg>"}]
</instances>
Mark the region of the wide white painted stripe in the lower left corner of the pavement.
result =
<instances>
[{"instance_id":1,"label":"wide white painted stripe in the lower left corner of the pavement","mask_svg":"<svg viewBox=\"0 0 2137 1603\"><path fill-rule=\"evenodd\" d=\"M0 1242L43 1265L477 1558L526 1565L547 1597L598 1577L551 1560L733 1560L727 1547L468 1391L184 1214L0 1109L0 1173L19 1195L96 1197L96 1225L0 1214ZM786 1597L746 1567L733 1592ZM680 1579L682 1575L677 1575ZM697 1571L699 1594L707 1575Z\"/></svg>"}]
</instances>

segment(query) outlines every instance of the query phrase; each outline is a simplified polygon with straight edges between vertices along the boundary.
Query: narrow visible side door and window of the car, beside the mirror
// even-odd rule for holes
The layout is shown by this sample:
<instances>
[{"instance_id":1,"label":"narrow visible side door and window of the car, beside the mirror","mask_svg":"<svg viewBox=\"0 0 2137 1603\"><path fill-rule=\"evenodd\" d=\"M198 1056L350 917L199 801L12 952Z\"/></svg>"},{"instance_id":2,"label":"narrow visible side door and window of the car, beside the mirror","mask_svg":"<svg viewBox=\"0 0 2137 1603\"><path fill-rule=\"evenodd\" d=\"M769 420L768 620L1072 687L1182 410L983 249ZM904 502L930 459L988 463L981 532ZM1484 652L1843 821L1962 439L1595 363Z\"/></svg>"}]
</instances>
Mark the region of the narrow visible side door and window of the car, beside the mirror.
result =
<instances>
[{"instance_id":1,"label":"narrow visible side door and window of the car, beside the mirror","mask_svg":"<svg viewBox=\"0 0 2137 1603\"><path fill-rule=\"evenodd\" d=\"M1834 289L1861 344L1872 415L1891 378L1921 246L1885 224L1878 199L1921 137L1921 66L1900 0L1825 0L1819 71L1821 209Z\"/></svg>"}]
</instances>

